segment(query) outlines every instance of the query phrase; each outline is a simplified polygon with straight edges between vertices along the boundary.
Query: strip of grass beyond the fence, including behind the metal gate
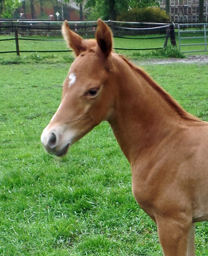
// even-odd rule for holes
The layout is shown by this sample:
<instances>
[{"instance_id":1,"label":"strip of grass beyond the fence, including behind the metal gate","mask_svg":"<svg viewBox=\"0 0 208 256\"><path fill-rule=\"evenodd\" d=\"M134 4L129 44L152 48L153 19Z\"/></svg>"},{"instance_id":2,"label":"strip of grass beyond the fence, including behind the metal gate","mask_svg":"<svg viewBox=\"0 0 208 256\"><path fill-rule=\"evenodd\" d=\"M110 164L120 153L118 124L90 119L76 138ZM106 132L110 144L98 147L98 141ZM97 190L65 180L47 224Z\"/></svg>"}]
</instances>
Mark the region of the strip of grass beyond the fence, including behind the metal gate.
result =
<instances>
[{"instance_id":1,"label":"strip of grass beyond the fence, including behind the metal gate","mask_svg":"<svg viewBox=\"0 0 208 256\"><path fill-rule=\"evenodd\" d=\"M183 33L183 37L190 36L201 36L202 33ZM152 49L157 47L163 47L165 38L154 38L154 37L162 37L165 34L153 34L153 35L140 35L140 36L127 36L129 38L114 38L114 47L123 48L123 49ZM0 39L10 39L14 38L14 36L0 36ZM21 36L19 36L21 39ZM64 41L60 41L62 37L47 37L47 36L27 36L30 39L44 39L49 41L26 41L19 40L19 48L20 51L62 51L66 50L66 43ZM132 38L140 38L140 39L132 39ZM153 38L153 39L150 39ZM177 42L177 50L179 47L179 39L178 39L178 29L175 29L175 38ZM25 39L23 37L23 39ZM53 42L50 40L56 39L57 41ZM203 43L202 38L195 39L182 39L182 44L198 44ZM170 45L170 38L168 41L168 45ZM0 41L1 51L15 51L15 41ZM204 45L191 45L191 46L181 46L181 51L194 51L194 50L204 50ZM175 57L175 58L183 58L184 55L178 53L177 51L173 51L172 49L166 49L166 52L162 50L137 50L137 51L128 51L128 50L115 50L120 54L124 54L131 59L149 59L149 58L164 58L164 57ZM188 54L196 54L196 53L188 53ZM198 52L197 54L207 54L207 52ZM0 63L28 63L28 62L47 62L47 63L57 63L57 62L71 62L73 61L73 54L67 52L51 52L51 53L20 53L20 58L17 58L16 53L4 53L0 54Z\"/></svg>"}]
</instances>

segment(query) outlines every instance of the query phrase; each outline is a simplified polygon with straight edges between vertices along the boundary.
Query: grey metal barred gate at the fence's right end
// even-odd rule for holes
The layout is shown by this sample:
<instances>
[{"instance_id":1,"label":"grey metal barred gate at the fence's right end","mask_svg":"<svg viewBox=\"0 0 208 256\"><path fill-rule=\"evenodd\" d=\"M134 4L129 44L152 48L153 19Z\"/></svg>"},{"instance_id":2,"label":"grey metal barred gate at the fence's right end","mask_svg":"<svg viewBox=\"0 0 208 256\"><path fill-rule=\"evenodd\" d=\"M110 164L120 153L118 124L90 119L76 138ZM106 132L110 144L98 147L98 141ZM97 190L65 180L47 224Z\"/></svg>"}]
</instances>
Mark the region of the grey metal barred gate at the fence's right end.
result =
<instances>
[{"instance_id":1,"label":"grey metal barred gate at the fence's right end","mask_svg":"<svg viewBox=\"0 0 208 256\"><path fill-rule=\"evenodd\" d=\"M199 28L199 29L195 29L195 28ZM207 48L207 39L208 39L208 30L206 29L208 27L207 23L198 23L197 25L195 23L191 23L191 24L178 24L178 33L179 33L179 50L181 51L181 47L183 46L196 46L196 45L204 45L204 49L202 50L189 50L189 51L181 51L183 53L186 52L206 52L208 51ZM188 29L188 30L185 30ZM193 29L194 28L194 29ZM182 30L183 29L183 30ZM186 33L186 35L190 35L190 36L182 36L184 33ZM203 36L196 36L196 34L201 34L203 33ZM182 35L181 35L182 34ZM181 43L182 40L193 40L193 39L204 39L203 43Z\"/></svg>"}]
</instances>

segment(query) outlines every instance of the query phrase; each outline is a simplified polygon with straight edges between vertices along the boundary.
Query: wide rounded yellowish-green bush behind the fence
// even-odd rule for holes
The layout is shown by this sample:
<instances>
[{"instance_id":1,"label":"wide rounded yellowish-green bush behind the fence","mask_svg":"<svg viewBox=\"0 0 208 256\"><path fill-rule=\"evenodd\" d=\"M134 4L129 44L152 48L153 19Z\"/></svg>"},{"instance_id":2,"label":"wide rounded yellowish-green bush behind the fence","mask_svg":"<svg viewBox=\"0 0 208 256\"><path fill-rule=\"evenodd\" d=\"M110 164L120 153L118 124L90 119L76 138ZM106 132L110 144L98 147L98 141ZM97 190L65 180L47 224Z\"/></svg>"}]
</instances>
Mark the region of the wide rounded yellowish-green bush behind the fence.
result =
<instances>
[{"instance_id":1,"label":"wide rounded yellowish-green bush behind the fence","mask_svg":"<svg viewBox=\"0 0 208 256\"><path fill-rule=\"evenodd\" d=\"M117 16L118 21L169 22L169 15L159 7L134 8Z\"/></svg>"}]
</instances>

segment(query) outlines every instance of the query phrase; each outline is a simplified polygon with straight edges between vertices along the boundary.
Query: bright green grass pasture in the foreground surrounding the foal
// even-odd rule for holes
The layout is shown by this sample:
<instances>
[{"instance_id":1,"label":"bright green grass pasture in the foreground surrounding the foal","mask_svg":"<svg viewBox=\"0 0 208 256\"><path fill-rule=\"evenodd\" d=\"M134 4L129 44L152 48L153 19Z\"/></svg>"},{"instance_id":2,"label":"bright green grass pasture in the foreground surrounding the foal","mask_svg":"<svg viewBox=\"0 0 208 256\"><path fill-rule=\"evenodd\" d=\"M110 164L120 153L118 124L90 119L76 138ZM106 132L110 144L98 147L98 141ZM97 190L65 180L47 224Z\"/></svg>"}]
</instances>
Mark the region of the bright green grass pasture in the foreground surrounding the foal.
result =
<instances>
[{"instance_id":1,"label":"bright green grass pasture in the foreground surrounding the foal","mask_svg":"<svg viewBox=\"0 0 208 256\"><path fill-rule=\"evenodd\" d=\"M0 254L162 255L156 226L134 201L130 165L107 123L61 159L41 145L69 66L0 66ZM143 67L183 108L208 121L207 64ZM197 223L196 255L208 254L207 232L206 222Z\"/></svg>"}]
</instances>

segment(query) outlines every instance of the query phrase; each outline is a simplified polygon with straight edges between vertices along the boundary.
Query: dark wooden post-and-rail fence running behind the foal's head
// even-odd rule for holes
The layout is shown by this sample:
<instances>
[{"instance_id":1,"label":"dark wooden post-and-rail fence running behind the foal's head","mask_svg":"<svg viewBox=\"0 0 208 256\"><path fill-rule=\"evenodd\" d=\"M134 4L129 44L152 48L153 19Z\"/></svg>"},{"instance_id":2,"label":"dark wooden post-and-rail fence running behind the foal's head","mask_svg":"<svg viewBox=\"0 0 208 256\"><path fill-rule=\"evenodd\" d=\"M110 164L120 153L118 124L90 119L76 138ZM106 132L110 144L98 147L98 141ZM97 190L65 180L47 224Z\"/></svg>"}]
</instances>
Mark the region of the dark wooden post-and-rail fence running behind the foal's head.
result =
<instances>
[{"instance_id":1,"label":"dark wooden post-and-rail fence running behind the foal's head","mask_svg":"<svg viewBox=\"0 0 208 256\"><path fill-rule=\"evenodd\" d=\"M119 38L127 38L127 39L150 39L154 40L157 38L164 38L164 45L161 47L153 47L153 48L145 48L145 49L132 49L132 48L121 48L114 47L115 50L130 50L130 51L139 51L139 50L155 50L155 49L163 49L163 47L167 44L167 39L171 38L171 43L176 45L175 36L174 36L174 25L166 24L166 23L142 23L142 22L117 22L117 21L106 21L108 26L113 30L114 37ZM15 51L0 51L0 53L14 53L16 52L18 56L23 52L67 52L71 50L57 50L57 51L41 51L41 50L20 50L19 49L19 41L20 40L28 40L28 41L62 41L62 39L35 39L35 38L27 38L27 37L19 37L21 33L24 31L29 31L29 34L34 34L34 31L46 30L47 33L50 31L61 31L62 21L24 21L24 20L0 20L0 31L7 31L7 33L14 35L13 38L0 39L0 41L15 41L16 50ZM77 21L70 22L69 26L72 30L76 31L76 33L84 35L85 37L94 37L95 30L97 27L96 21ZM6 29L6 30L5 30ZM22 32L23 31L23 32ZM159 36L154 36L154 34L160 34ZM153 34L152 37L144 38L138 37L139 35ZM131 37L130 37L130 36ZM137 37L133 37L133 36Z\"/></svg>"}]
</instances>

